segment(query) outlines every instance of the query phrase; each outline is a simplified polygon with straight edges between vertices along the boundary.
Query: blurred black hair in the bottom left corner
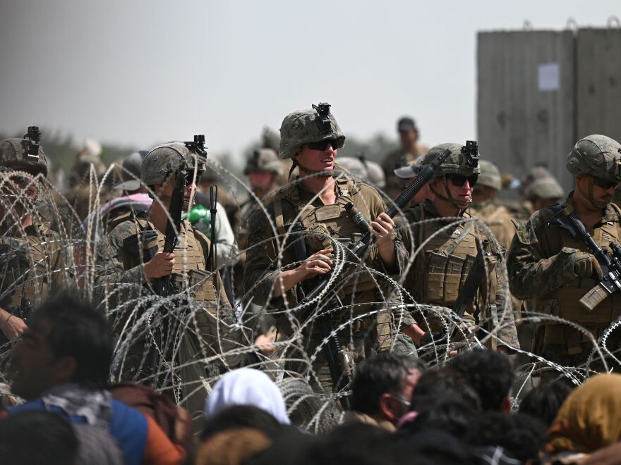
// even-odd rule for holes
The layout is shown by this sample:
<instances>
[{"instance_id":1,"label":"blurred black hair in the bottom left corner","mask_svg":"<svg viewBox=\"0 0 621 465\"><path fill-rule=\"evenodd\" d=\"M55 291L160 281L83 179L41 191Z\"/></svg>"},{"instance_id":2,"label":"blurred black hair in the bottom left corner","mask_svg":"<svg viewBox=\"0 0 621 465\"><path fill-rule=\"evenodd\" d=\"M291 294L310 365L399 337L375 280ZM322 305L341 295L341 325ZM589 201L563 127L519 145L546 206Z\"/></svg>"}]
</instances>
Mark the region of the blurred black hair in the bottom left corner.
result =
<instances>
[{"instance_id":1,"label":"blurred black hair in the bottom left corner","mask_svg":"<svg viewBox=\"0 0 621 465\"><path fill-rule=\"evenodd\" d=\"M71 465L77 457L73 427L56 414L32 410L0 420L3 464Z\"/></svg>"}]
</instances>

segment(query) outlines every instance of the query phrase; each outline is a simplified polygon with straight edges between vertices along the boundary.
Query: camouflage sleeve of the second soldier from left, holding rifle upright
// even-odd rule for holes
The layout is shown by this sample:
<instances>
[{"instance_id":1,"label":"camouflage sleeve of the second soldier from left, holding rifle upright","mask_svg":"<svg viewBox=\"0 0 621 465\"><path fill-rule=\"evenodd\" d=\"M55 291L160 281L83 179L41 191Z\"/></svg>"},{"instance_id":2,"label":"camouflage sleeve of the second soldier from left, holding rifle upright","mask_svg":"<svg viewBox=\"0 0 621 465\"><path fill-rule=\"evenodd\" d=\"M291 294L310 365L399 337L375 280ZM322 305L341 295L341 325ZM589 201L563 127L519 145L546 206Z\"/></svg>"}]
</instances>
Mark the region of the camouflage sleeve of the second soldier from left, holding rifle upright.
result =
<instances>
[{"instance_id":1,"label":"camouflage sleeve of the second soldier from left, holding rifle upright","mask_svg":"<svg viewBox=\"0 0 621 465\"><path fill-rule=\"evenodd\" d=\"M143 283L142 264L128 270L123 267L123 240L135 234L135 231L135 225L126 221L111 230L97 245L95 287L100 292L114 287L116 283Z\"/></svg>"}]
</instances>

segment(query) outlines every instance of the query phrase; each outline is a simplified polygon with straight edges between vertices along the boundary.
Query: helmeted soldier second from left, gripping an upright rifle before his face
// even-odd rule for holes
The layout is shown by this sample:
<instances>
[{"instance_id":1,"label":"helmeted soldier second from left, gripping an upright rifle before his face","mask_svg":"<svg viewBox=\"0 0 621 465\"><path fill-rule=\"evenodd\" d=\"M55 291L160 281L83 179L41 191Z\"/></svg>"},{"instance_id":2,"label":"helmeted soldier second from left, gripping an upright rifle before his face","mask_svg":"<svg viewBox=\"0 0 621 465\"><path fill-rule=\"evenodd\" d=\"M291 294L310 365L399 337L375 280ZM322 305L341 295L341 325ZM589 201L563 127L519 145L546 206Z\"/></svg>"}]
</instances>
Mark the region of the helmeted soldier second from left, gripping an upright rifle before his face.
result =
<instances>
[{"instance_id":1,"label":"helmeted soldier second from left, gripping an upright rifle before his face","mask_svg":"<svg viewBox=\"0 0 621 465\"><path fill-rule=\"evenodd\" d=\"M182 221L205 156L195 142L163 144L147 154L140 180L155 199L146 212L116 216L97 252L97 292L116 306L122 380L164 389L198 415L205 380L239 355L241 332L217 271L210 240ZM169 215L173 221L170 221ZM171 390L174 387L174 390Z\"/></svg>"}]
</instances>

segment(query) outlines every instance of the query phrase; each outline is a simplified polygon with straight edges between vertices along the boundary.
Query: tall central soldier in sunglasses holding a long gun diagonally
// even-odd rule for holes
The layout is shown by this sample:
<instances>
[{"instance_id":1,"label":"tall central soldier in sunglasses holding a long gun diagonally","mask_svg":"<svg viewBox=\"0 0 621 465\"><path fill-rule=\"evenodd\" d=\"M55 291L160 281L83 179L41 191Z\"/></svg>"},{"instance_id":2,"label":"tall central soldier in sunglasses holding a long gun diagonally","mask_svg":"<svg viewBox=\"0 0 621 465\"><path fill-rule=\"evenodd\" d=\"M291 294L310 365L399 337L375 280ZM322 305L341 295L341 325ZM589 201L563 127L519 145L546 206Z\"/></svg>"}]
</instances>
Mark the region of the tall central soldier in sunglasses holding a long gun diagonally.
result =
<instances>
[{"instance_id":1,"label":"tall central soldier in sunglasses holding a long gun diagonally","mask_svg":"<svg viewBox=\"0 0 621 465\"><path fill-rule=\"evenodd\" d=\"M406 260L405 249L394 234L394 223L385 213L378 193L373 187L351 179L346 172L335 170L337 149L343 147L345 136L329 109L328 104L313 105L313 109L295 111L284 118L279 156L293 159L300 176L275 193L267 204L269 218L259 210L248 218L244 290L252 295L256 304L269 306L277 317L280 332L291 335L291 326L299 319L297 324L303 328L304 337L301 345L306 354L313 353L322 340L313 328L314 320L303 316L301 312L306 310L289 313L287 309L303 299L306 280L325 276L334 269L335 242L351 246L367 232L347 216L346 204L353 203L365 218L373 219L370 225L376 242L366 256L368 266L395 275ZM289 235L300 223L309 255L302 259L294 252L296 238L300 235ZM271 224L275 225L275 232ZM283 241L284 248L279 249ZM380 287L385 292L379 278L375 278L376 282L368 272L361 271L361 267L357 271L343 273L337 278L344 306L331 309L331 316L334 328L345 324L338 333L342 347L346 347L354 359L361 359L390 349L391 328L390 317L385 313L371 314L347 324L352 316L375 308L370 304L381 299L378 296ZM296 354L294 358L300 356L304 354ZM287 363L287 369L292 371L308 368ZM332 384L323 353L319 354L313 368L313 384L319 382L324 387Z\"/></svg>"}]
</instances>

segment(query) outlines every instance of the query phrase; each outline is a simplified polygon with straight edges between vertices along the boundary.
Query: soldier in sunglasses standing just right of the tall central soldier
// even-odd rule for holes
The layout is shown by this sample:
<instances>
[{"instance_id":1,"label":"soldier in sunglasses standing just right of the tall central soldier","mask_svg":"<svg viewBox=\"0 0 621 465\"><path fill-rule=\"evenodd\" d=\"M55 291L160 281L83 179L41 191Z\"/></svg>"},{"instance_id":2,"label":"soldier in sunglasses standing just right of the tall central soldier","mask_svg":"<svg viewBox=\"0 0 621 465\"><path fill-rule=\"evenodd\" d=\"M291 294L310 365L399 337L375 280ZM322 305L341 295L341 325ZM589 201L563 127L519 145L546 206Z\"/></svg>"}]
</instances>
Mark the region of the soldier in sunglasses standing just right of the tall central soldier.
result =
<instances>
[{"instance_id":1,"label":"soldier in sunglasses standing just right of the tall central soldier","mask_svg":"<svg viewBox=\"0 0 621 465\"><path fill-rule=\"evenodd\" d=\"M430 182L433 200L426 199L404 210L404 243L411 252L416 251L404 288L418 303L450 308L459 296L474 257L483 247L483 240L490 240L490 237L475 221L454 220L456 217L471 218L466 209L472 202L472 190L481 173L478 154L461 144L440 144L428 151L421 166L424 168L447 149L451 152L449 158ZM485 254L487 273L464 320L469 327L482 325L493 333L498 339L491 338L490 347L504 350L519 346L511 307L507 304L507 295L502 292L505 280L498 261L503 253L504 250L495 247L490 240ZM425 322L420 317L416 315L422 328L408 318L402 323L404 333L418 345L430 341L430 333L444 328L437 314L427 315Z\"/></svg>"}]
</instances>

